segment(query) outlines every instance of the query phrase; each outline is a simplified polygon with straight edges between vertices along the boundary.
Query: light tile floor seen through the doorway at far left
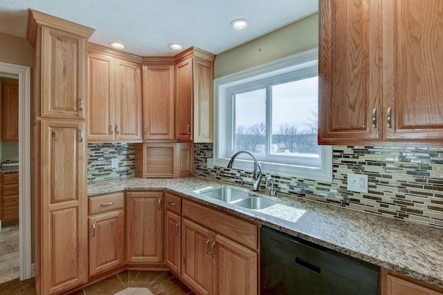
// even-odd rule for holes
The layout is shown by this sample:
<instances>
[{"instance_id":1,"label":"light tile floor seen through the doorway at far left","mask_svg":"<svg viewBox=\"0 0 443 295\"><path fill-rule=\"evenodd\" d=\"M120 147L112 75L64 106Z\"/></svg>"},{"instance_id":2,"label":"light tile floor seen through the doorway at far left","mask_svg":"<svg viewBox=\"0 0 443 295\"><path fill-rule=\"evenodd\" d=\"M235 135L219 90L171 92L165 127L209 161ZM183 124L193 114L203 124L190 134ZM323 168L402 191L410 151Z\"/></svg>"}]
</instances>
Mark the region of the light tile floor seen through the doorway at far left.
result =
<instances>
[{"instance_id":1,"label":"light tile floor seen through the doorway at far left","mask_svg":"<svg viewBox=\"0 0 443 295\"><path fill-rule=\"evenodd\" d=\"M2 227L0 231L0 283L19 278L19 225Z\"/></svg>"}]
</instances>

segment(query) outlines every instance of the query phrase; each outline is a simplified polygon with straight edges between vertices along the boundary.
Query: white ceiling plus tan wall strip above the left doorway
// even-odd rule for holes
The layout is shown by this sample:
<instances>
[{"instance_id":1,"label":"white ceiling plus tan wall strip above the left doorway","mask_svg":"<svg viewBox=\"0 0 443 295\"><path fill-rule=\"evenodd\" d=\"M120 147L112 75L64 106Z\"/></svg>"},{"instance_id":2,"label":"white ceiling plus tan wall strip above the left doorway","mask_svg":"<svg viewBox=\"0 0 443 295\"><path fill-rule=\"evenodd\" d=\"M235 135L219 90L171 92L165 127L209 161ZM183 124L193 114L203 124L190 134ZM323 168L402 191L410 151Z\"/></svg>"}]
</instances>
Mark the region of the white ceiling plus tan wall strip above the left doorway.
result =
<instances>
[{"instance_id":1,"label":"white ceiling plus tan wall strip above the left doorway","mask_svg":"<svg viewBox=\"0 0 443 295\"><path fill-rule=\"evenodd\" d=\"M172 56L170 43L222 53L316 12L318 0L0 0L0 32L26 37L28 8L96 29L93 43ZM230 28L239 18L251 25Z\"/></svg>"}]
</instances>

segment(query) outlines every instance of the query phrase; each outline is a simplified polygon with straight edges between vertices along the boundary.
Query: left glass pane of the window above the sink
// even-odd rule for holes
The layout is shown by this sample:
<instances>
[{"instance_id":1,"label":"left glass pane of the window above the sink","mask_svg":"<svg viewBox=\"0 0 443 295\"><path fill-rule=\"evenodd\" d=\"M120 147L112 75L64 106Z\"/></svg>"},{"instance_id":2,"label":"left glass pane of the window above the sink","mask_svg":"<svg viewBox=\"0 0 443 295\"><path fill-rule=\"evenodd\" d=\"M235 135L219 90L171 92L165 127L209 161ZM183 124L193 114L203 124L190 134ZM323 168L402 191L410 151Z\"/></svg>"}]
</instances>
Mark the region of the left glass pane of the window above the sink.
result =
<instances>
[{"instance_id":1,"label":"left glass pane of the window above the sink","mask_svg":"<svg viewBox=\"0 0 443 295\"><path fill-rule=\"evenodd\" d=\"M235 95L235 151L264 153L266 89Z\"/></svg>"}]
</instances>

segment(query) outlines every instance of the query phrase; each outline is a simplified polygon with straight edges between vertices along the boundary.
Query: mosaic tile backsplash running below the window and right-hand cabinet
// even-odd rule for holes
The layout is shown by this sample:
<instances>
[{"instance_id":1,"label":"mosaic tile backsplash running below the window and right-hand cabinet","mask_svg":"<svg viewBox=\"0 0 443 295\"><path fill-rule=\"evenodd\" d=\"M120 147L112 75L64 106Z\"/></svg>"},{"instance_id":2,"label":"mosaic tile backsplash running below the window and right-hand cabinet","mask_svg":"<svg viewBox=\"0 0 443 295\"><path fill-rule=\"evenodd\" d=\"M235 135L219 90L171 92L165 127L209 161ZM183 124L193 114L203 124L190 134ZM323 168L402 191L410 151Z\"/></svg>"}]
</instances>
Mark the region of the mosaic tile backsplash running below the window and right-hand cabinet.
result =
<instances>
[{"instance_id":1,"label":"mosaic tile backsplash running below the window and right-hand cabinet","mask_svg":"<svg viewBox=\"0 0 443 295\"><path fill-rule=\"evenodd\" d=\"M213 144L195 144L196 176L252 185L251 171L208 169L207 158ZM347 173L368 175L368 193L347 191ZM443 227L443 148L334 146L332 182L263 175L262 189L269 176L285 196Z\"/></svg>"}]
</instances>

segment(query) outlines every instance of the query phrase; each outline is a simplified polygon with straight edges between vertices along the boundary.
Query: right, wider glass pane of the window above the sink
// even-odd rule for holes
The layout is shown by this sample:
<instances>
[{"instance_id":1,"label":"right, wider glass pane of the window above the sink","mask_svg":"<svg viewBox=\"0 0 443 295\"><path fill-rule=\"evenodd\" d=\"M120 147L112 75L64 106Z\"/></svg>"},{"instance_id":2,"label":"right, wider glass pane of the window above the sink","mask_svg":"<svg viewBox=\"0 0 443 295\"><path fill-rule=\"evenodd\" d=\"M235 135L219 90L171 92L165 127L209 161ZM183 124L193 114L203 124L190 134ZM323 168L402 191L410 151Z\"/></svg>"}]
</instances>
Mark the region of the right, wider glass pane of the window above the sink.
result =
<instances>
[{"instance_id":1,"label":"right, wider glass pane of the window above the sink","mask_svg":"<svg viewBox=\"0 0 443 295\"><path fill-rule=\"evenodd\" d=\"M318 155L318 77L272 87L272 145L275 155Z\"/></svg>"}]
</instances>

